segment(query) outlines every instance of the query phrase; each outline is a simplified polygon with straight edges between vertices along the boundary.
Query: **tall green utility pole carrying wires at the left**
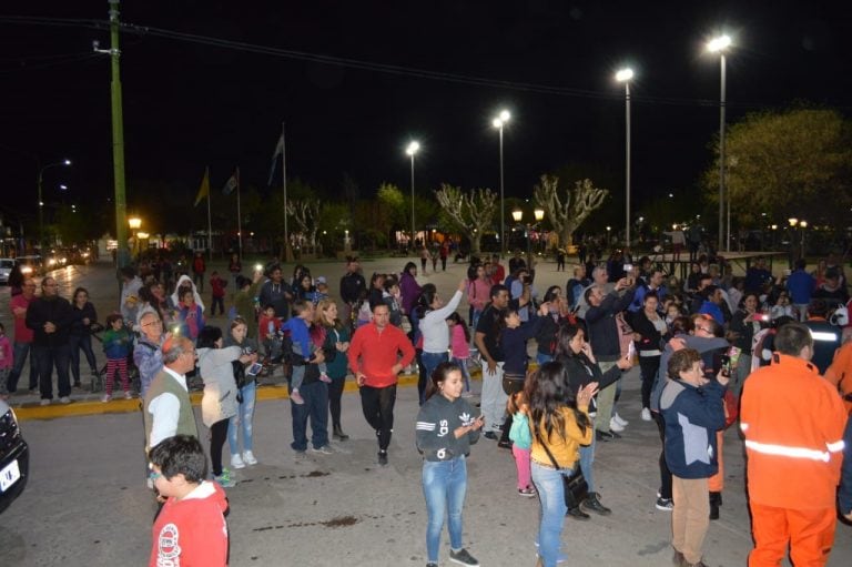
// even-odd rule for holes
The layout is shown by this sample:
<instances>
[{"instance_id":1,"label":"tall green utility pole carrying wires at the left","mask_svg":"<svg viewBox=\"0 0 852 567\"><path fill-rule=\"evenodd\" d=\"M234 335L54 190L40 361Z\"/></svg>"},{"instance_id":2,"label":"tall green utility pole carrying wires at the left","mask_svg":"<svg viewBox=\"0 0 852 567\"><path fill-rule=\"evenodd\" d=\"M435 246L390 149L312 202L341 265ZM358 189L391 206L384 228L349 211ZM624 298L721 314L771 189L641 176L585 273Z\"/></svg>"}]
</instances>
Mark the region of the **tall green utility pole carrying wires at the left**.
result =
<instances>
[{"instance_id":1,"label":"tall green utility pole carrying wires at the left","mask_svg":"<svg viewBox=\"0 0 852 567\"><path fill-rule=\"evenodd\" d=\"M110 49L98 49L94 42L94 51L108 53L111 58L112 82L110 93L112 98L112 173L115 188L115 240L118 250L115 259L118 267L130 264L128 251L128 205L124 192L124 112L121 103L121 67L119 58L119 0L108 0L110 3Z\"/></svg>"}]
</instances>

